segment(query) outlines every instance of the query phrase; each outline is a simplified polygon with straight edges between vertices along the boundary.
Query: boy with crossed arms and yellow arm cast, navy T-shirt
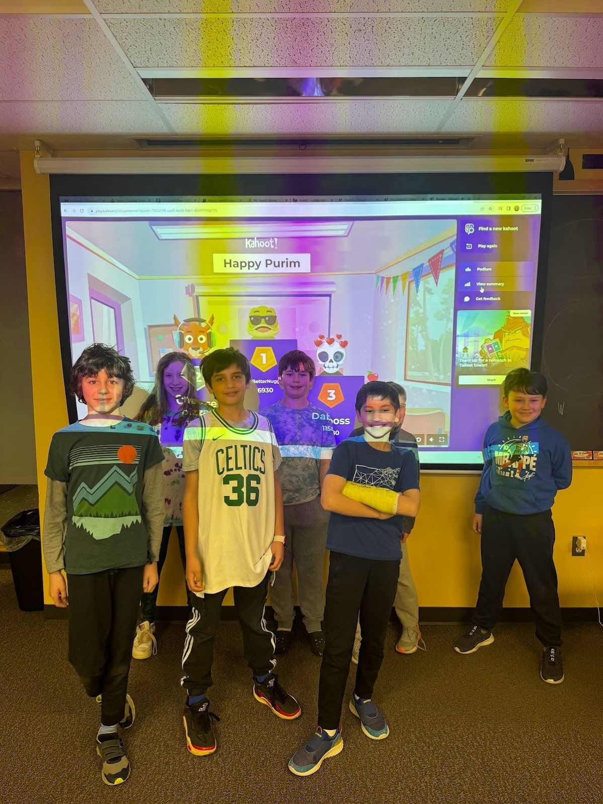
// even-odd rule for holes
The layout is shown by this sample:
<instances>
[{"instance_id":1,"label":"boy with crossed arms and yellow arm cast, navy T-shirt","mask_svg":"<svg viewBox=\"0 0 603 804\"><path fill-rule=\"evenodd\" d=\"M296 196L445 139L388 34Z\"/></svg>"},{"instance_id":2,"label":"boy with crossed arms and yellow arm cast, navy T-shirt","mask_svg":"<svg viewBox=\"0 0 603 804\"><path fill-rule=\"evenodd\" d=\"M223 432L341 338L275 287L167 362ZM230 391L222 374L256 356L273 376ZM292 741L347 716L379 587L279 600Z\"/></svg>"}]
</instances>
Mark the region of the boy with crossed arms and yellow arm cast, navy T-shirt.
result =
<instances>
[{"instance_id":1,"label":"boy with crossed arms and yellow arm cast, navy T-shirt","mask_svg":"<svg viewBox=\"0 0 603 804\"><path fill-rule=\"evenodd\" d=\"M356 623L360 647L350 710L371 740L384 740L388 724L372 701L384 658L385 634L400 573L404 515L416 516L420 492L416 458L394 449L389 433L400 420L400 400L387 383L367 383L356 396L363 436L334 450L321 502L331 511L326 585L326 642L318 687L318 728L289 760L289 770L309 776L343 749L340 723Z\"/></svg>"}]
</instances>

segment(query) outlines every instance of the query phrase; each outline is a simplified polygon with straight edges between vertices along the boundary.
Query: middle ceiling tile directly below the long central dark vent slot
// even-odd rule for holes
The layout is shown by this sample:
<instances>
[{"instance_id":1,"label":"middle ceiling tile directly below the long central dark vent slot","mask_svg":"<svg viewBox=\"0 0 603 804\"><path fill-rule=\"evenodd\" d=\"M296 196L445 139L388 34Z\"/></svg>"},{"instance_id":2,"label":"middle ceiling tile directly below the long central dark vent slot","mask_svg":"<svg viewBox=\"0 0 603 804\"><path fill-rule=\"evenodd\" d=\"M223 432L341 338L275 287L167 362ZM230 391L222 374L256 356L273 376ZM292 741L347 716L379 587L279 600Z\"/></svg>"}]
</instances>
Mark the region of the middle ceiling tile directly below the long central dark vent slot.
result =
<instances>
[{"instance_id":1,"label":"middle ceiling tile directly below the long central dark vent slot","mask_svg":"<svg viewBox=\"0 0 603 804\"><path fill-rule=\"evenodd\" d=\"M437 100L355 100L351 103L162 104L178 134L429 133L441 119Z\"/></svg>"}]
</instances>

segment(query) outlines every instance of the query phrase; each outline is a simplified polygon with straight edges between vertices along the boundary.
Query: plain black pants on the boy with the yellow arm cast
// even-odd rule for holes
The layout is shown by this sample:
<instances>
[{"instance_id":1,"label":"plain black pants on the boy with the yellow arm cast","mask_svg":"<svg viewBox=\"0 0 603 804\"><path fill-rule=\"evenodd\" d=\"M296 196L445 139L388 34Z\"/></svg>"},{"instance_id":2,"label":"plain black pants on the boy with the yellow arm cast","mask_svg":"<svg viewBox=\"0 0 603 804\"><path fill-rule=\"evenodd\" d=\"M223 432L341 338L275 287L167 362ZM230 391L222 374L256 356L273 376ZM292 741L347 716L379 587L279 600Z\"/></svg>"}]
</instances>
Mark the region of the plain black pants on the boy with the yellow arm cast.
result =
<instances>
[{"instance_id":1,"label":"plain black pants on the boy with the yellow arm cast","mask_svg":"<svg viewBox=\"0 0 603 804\"><path fill-rule=\"evenodd\" d=\"M318 725L338 728L350 670L356 623L362 642L355 693L371 698L398 585L400 560L376 561L330 553L325 601L325 651L318 686Z\"/></svg>"}]
</instances>

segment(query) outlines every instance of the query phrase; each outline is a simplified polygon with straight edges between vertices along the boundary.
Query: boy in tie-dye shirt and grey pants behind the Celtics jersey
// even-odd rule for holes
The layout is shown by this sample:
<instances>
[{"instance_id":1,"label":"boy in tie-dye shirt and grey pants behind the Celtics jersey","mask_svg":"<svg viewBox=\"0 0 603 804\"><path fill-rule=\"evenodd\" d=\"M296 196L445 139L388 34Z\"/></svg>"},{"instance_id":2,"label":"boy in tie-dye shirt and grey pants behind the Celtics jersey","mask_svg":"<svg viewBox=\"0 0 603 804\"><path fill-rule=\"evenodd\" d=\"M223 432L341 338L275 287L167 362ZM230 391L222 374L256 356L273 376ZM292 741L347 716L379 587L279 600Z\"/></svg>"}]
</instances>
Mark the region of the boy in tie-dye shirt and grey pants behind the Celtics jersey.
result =
<instances>
[{"instance_id":1,"label":"boy in tie-dye shirt and grey pants behind the Celtics jersey","mask_svg":"<svg viewBox=\"0 0 603 804\"><path fill-rule=\"evenodd\" d=\"M285 558L270 590L278 623L275 654L284 654L291 643L295 617L293 561L310 650L322 656L325 646L322 566L329 515L320 504L320 493L335 437L329 416L308 401L315 374L314 361L306 352L287 352L278 362L283 398L262 411L273 425L283 457L278 479L285 515Z\"/></svg>"}]
</instances>

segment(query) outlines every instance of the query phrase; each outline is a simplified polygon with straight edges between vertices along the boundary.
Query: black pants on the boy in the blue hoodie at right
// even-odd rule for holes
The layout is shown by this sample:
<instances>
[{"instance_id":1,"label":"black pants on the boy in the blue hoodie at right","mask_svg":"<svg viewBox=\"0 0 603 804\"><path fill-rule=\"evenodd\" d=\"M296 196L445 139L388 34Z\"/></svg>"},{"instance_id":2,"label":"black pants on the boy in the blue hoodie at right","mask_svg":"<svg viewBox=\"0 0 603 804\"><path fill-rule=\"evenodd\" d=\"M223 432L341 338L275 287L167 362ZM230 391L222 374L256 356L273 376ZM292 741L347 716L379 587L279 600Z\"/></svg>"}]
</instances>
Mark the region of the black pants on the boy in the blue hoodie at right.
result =
<instances>
[{"instance_id":1,"label":"black pants on the boy in the blue hoodie at right","mask_svg":"<svg viewBox=\"0 0 603 804\"><path fill-rule=\"evenodd\" d=\"M496 625L503 609L507 578L517 559L530 595L536 637L545 646L562 644L553 544L555 527L551 511L516 515L486 505L482 520L482 582L474 614L476 625L487 630Z\"/></svg>"}]
</instances>

